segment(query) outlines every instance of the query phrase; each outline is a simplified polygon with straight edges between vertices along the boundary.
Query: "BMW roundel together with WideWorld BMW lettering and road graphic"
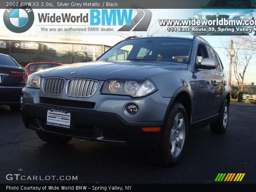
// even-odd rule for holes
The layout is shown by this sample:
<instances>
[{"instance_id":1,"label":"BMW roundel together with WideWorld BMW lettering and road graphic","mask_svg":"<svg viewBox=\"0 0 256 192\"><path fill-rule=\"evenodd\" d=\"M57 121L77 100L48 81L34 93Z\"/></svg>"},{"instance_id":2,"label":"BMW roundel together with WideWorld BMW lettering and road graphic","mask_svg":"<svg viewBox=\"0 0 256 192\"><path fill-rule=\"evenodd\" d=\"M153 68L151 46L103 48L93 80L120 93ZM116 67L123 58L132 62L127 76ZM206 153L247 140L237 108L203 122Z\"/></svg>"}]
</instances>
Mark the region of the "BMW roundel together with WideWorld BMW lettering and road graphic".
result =
<instances>
[{"instance_id":1,"label":"BMW roundel together with WideWorld BMW lettering and road graphic","mask_svg":"<svg viewBox=\"0 0 256 192\"><path fill-rule=\"evenodd\" d=\"M147 31L152 13L147 9L87 9L82 12L38 12L38 26L121 26L117 31ZM136 13L136 14L135 14ZM15 33L29 30L34 23L34 12L30 6L16 4L4 12L5 26ZM42 30L44 31L44 30ZM97 30L96 30L97 31ZM106 30L104 30L106 31Z\"/></svg>"}]
</instances>

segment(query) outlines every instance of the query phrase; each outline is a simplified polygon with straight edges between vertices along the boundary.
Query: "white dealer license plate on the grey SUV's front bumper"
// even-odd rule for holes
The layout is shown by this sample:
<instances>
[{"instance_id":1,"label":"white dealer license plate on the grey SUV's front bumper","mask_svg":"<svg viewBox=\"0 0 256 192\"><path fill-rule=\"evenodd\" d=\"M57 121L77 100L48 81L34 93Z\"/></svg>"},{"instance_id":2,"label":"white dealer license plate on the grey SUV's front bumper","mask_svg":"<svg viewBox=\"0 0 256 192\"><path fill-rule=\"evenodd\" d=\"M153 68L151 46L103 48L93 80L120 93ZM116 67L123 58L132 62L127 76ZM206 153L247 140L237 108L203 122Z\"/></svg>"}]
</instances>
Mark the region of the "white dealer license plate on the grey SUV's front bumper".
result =
<instances>
[{"instance_id":1,"label":"white dealer license plate on the grey SUV's front bumper","mask_svg":"<svg viewBox=\"0 0 256 192\"><path fill-rule=\"evenodd\" d=\"M71 113L62 110L47 110L46 125L70 129Z\"/></svg>"}]
</instances>

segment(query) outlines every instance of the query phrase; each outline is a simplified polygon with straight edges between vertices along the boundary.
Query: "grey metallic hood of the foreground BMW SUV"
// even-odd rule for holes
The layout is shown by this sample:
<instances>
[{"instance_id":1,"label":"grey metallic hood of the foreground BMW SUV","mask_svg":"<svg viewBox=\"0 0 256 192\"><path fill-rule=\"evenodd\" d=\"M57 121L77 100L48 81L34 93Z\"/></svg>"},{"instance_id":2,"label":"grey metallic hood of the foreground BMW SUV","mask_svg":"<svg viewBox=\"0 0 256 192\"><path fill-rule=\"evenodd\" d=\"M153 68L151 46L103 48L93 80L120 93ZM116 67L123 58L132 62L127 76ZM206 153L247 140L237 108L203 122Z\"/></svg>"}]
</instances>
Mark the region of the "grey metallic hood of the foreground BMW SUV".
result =
<instances>
[{"instance_id":1,"label":"grey metallic hood of the foreground BMW SUV","mask_svg":"<svg viewBox=\"0 0 256 192\"><path fill-rule=\"evenodd\" d=\"M152 75L174 70L186 70L188 64L148 61L95 61L64 65L36 72L42 77L88 78L107 80L111 78L127 78L144 80ZM74 74L70 74L70 73Z\"/></svg>"}]
</instances>

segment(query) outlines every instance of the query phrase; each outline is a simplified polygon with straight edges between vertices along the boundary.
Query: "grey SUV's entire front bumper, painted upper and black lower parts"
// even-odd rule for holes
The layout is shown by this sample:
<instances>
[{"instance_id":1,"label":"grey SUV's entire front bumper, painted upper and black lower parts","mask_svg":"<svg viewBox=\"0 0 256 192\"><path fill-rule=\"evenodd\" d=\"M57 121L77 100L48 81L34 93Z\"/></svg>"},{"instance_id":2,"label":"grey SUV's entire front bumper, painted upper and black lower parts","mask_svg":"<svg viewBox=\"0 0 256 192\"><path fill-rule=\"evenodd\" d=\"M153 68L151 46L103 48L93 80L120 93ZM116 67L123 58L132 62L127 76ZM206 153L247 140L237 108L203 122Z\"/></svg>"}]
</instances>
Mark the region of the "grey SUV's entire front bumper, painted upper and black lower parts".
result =
<instances>
[{"instance_id":1,"label":"grey SUV's entire front bumper, painted upper and black lower parts","mask_svg":"<svg viewBox=\"0 0 256 192\"><path fill-rule=\"evenodd\" d=\"M162 127L167 106L172 101L171 98L163 98L158 91L144 98L102 94L86 99L62 96L69 101L96 101L94 108L84 109L41 103L37 97L38 90L35 89L24 89L23 94L21 114L26 128L86 140L128 144L136 148L154 148L158 145L161 131L144 132L142 128ZM40 93L40 96L46 95ZM138 115L128 117L124 114L123 106L127 102L138 104ZM49 109L72 112L72 128L68 130L47 126L46 114Z\"/></svg>"}]
</instances>

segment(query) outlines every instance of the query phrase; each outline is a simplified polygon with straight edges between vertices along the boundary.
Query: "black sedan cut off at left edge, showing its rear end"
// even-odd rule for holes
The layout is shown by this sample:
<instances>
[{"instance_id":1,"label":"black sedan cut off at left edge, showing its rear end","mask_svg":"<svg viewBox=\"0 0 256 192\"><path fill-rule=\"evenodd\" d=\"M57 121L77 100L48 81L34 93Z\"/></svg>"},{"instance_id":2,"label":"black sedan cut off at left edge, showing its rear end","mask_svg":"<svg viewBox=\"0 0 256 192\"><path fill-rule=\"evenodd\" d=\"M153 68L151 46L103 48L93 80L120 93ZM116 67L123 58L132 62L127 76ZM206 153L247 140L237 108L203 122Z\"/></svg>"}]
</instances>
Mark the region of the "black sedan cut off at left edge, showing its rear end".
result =
<instances>
[{"instance_id":1,"label":"black sedan cut off at left edge, showing its rear end","mask_svg":"<svg viewBox=\"0 0 256 192\"><path fill-rule=\"evenodd\" d=\"M0 105L9 105L13 112L20 110L20 96L26 85L26 71L14 58L0 54Z\"/></svg>"}]
</instances>

